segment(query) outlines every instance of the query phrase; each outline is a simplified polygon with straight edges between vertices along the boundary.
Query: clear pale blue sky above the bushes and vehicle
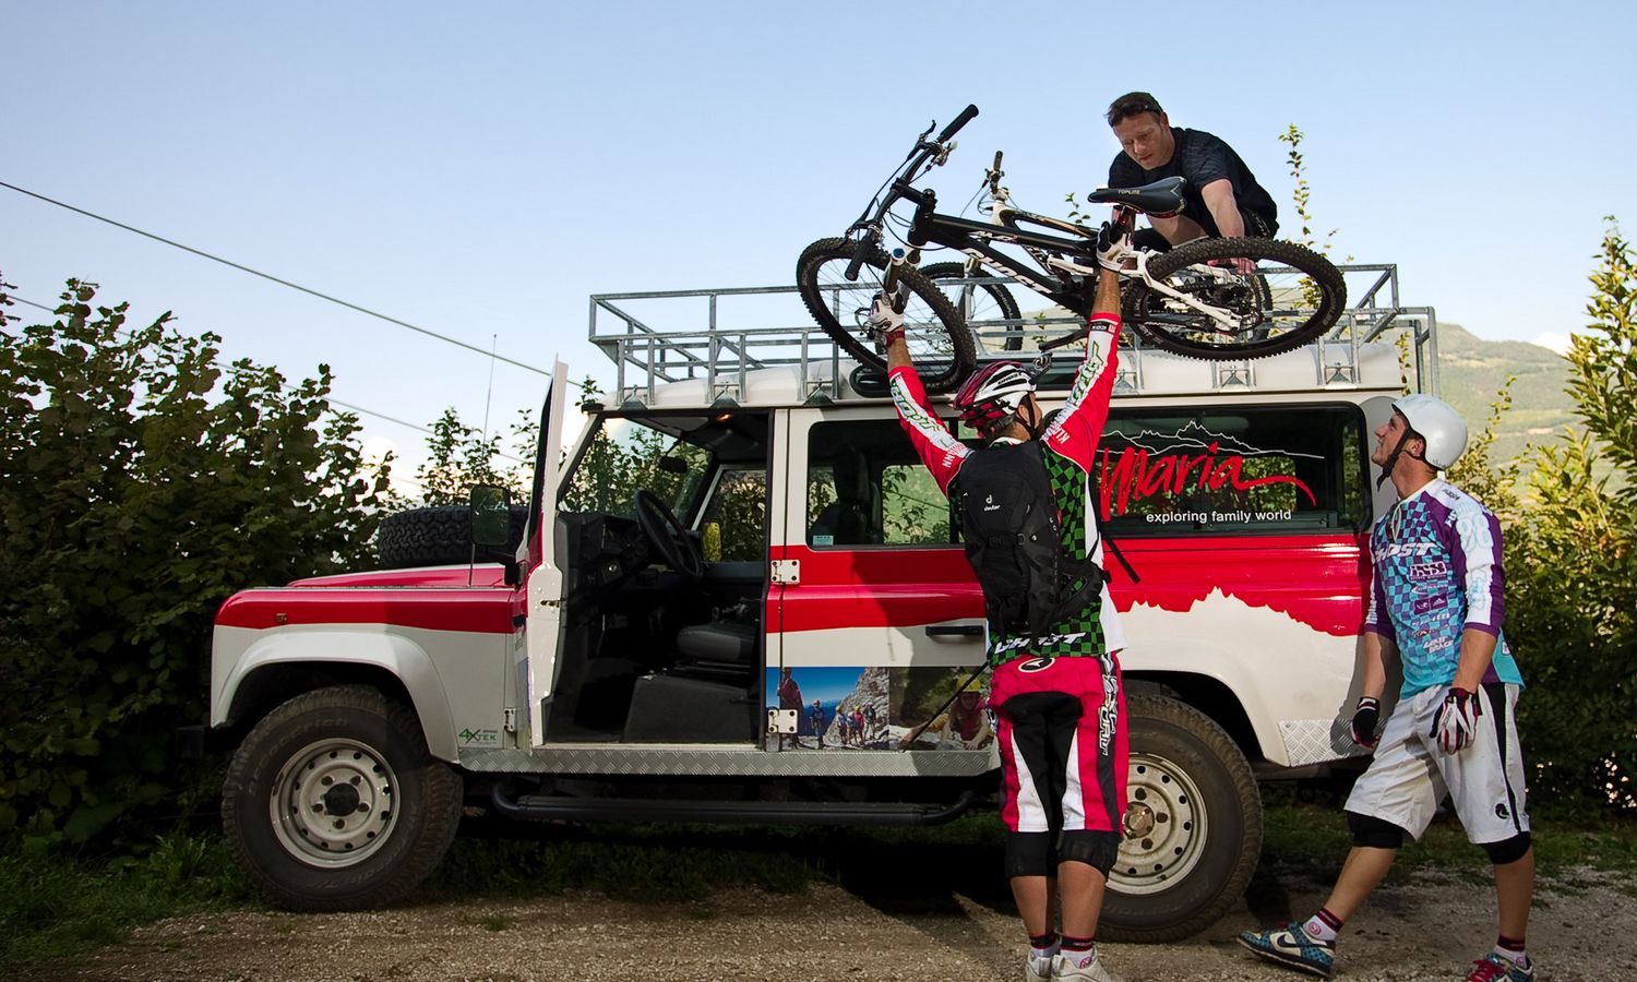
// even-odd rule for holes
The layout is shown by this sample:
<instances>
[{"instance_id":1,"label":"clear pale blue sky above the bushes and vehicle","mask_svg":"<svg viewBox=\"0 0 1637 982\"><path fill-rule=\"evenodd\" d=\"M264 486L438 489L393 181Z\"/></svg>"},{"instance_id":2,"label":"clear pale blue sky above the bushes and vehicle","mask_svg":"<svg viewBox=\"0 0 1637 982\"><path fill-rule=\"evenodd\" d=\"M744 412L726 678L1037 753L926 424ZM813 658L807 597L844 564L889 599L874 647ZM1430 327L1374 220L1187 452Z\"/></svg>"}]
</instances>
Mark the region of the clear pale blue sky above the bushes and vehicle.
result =
<instances>
[{"instance_id":1,"label":"clear pale blue sky above the bushes and vehicle","mask_svg":"<svg viewBox=\"0 0 1637 982\"><path fill-rule=\"evenodd\" d=\"M946 205L1005 149L1017 203L1059 209L1118 149L1100 110L1146 88L1234 144L1287 232L1295 123L1334 254L1490 339L1580 327L1603 216L1637 226L1616 3L0 0L0 180L604 381L588 295L791 282L967 101ZM476 424L489 396L481 355L5 188L0 273L47 304L95 280L288 375L327 362L336 398L399 419ZM494 367L491 419L542 388Z\"/></svg>"}]
</instances>

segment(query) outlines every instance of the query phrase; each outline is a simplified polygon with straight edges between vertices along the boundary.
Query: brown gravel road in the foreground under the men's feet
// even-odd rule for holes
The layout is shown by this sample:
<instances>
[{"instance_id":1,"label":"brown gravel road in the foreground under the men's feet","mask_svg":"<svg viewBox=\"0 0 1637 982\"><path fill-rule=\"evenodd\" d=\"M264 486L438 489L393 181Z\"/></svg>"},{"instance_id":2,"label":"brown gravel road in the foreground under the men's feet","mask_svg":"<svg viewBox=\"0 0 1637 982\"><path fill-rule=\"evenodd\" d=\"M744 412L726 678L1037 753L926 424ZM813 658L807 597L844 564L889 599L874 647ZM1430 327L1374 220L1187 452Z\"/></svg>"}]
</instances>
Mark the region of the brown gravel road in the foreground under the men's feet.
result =
<instances>
[{"instance_id":1,"label":"brown gravel road in the foreground under the men's feet","mask_svg":"<svg viewBox=\"0 0 1637 982\"><path fill-rule=\"evenodd\" d=\"M1473 869L1475 876L1483 869ZM1637 972L1632 885L1591 871L1542 889L1529 949L1542 980ZM1259 874L1211 930L1174 944L1103 944L1131 982L1303 979L1256 962L1234 935L1310 912L1311 882ZM1416 874L1383 885L1344 931L1341 979L1462 979L1488 949L1495 900L1481 879ZM1003 895L861 895L841 885L804 894L727 890L645 905L576 894L539 900L414 900L342 915L237 912L169 920L52 979L791 979L1015 982L1025 939ZM41 975L44 977L44 975Z\"/></svg>"}]
</instances>

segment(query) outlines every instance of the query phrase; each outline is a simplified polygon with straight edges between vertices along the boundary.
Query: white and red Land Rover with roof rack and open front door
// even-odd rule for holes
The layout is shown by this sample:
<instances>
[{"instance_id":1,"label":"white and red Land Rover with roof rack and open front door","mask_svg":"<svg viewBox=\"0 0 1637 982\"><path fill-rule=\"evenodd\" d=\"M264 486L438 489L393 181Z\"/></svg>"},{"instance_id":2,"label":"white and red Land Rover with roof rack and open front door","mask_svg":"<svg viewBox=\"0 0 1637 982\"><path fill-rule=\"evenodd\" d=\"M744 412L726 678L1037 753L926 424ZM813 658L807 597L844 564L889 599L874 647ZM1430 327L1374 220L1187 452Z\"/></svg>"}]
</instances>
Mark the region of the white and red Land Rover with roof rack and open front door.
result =
<instances>
[{"instance_id":1,"label":"white and red Land Rover with roof rack and open front door","mask_svg":"<svg viewBox=\"0 0 1637 982\"><path fill-rule=\"evenodd\" d=\"M1097 488L1139 581L1110 568L1131 776L1108 936L1210 925L1256 867L1257 779L1352 751L1362 543L1388 504L1370 432L1405 388L1401 352L1436 388L1432 311L1378 306L1388 283L1396 304L1393 267L1360 270L1378 278L1333 340L1246 363L1121 354ZM223 817L277 903L403 895L468 807L933 823L992 797L981 697L954 697L982 660L981 592L882 380L817 327L722 326L719 303L787 290L697 298L704 329L632 313L676 295L593 298L617 383L581 406L558 466L558 367L504 561L470 561L462 532L419 553L447 565L223 604L210 723L239 740Z\"/></svg>"}]
</instances>

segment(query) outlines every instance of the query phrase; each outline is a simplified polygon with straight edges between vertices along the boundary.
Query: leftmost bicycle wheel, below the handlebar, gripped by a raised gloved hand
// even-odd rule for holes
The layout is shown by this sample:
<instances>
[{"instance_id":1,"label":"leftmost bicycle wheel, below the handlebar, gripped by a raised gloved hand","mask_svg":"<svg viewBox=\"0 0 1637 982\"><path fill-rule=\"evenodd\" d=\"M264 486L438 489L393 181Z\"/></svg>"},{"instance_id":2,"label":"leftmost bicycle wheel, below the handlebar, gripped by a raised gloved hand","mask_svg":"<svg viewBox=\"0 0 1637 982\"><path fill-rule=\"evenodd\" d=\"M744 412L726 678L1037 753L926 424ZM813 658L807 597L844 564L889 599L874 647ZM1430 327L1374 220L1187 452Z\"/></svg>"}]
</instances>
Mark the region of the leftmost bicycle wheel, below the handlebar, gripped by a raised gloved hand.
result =
<instances>
[{"instance_id":1,"label":"leftmost bicycle wheel, below the handlebar, gripped by a raised gloved hand","mask_svg":"<svg viewBox=\"0 0 1637 982\"><path fill-rule=\"evenodd\" d=\"M848 282L846 264L858 242L851 239L818 239L796 260L796 286L807 311L835 339L841 350L861 365L887 370L887 358L869 337L869 303L881 291L887 254L871 247L858 280ZM977 362L972 332L967 331L954 304L915 267L902 267L899 282L909 286L910 303L904 309L904 339L922 385L930 393L954 388Z\"/></svg>"}]
</instances>

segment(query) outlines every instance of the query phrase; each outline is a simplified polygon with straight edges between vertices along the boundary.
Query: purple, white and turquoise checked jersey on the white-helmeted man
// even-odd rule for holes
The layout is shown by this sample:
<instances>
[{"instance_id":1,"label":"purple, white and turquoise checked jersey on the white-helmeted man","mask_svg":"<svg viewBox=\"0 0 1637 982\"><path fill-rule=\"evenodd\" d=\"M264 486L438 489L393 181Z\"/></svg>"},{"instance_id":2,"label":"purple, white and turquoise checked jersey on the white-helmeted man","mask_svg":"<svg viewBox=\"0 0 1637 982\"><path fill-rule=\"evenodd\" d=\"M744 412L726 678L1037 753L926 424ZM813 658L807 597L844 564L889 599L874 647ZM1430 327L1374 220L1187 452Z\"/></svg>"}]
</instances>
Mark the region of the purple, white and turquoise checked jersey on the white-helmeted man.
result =
<instances>
[{"instance_id":1,"label":"purple, white and turquoise checked jersey on the white-helmeted man","mask_svg":"<svg viewBox=\"0 0 1637 982\"><path fill-rule=\"evenodd\" d=\"M1495 635L1485 682L1522 686L1501 633L1501 525L1478 499L1431 481L1375 522L1370 532L1375 584L1364 628L1395 642L1405 666L1401 696L1455 681L1460 635Z\"/></svg>"}]
</instances>

